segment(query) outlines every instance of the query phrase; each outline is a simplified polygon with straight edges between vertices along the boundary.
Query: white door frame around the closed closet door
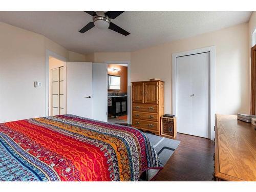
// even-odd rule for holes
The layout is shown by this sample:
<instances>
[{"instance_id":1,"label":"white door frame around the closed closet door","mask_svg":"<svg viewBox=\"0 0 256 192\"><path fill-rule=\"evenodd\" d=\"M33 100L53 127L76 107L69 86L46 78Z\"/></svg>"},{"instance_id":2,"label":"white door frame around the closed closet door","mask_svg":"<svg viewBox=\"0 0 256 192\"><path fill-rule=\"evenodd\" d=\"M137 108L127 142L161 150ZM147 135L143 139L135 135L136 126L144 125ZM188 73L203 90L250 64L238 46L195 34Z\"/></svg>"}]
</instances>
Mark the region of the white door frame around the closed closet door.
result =
<instances>
[{"instance_id":1,"label":"white door frame around the closed closet door","mask_svg":"<svg viewBox=\"0 0 256 192\"><path fill-rule=\"evenodd\" d=\"M210 140L215 139L215 113L216 113L216 87L215 87L215 76L216 76L216 46L204 47L195 50L189 50L179 53L172 54L172 79L173 79L173 114L177 115L177 57L200 54L200 53L210 53L210 75L209 75L209 86L210 86L210 94L209 94L209 124L210 131L208 138Z\"/></svg>"}]
</instances>

